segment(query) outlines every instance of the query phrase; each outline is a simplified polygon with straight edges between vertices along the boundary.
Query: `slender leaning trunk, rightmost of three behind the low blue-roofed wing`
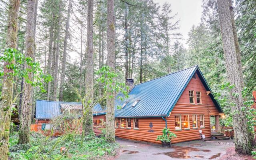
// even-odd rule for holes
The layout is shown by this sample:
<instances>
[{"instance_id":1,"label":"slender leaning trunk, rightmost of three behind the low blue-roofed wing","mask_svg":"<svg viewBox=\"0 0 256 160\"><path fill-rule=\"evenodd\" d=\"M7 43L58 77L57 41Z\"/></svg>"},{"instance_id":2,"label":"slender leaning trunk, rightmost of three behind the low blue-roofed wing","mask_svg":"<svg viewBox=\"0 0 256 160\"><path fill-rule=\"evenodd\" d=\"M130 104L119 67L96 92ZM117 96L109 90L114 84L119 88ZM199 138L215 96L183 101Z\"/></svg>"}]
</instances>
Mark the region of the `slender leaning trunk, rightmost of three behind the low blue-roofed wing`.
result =
<instances>
[{"instance_id":1,"label":"slender leaning trunk, rightmost of three behind the low blue-roofed wing","mask_svg":"<svg viewBox=\"0 0 256 160\"><path fill-rule=\"evenodd\" d=\"M66 32L64 38L64 49L62 57L62 70L60 76L60 101L63 101L63 90L64 90L64 80L65 80L65 71L66 71L66 57L67 57L67 46L68 46L68 32L69 32L69 20L70 20L70 10L71 10L71 0L68 3L68 17L66 21Z\"/></svg>"}]
</instances>

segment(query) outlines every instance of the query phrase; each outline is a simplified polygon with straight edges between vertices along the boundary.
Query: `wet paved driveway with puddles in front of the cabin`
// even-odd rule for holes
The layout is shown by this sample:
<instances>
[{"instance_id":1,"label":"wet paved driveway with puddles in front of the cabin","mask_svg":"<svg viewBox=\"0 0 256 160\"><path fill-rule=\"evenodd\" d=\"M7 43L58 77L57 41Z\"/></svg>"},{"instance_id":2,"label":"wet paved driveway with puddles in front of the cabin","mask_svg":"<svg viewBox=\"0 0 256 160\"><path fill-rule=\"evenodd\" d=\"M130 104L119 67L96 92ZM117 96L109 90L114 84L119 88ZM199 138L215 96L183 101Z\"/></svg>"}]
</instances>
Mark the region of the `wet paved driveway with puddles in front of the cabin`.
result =
<instances>
[{"instance_id":1,"label":"wet paved driveway with puddles in front of the cabin","mask_svg":"<svg viewBox=\"0 0 256 160\"><path fill-rule=\"evenodd\" d=\"M219 160L228 148L234 147L234 140L190 141L173 144L170 148L147 142L117 138L120 155L115 160Z\"/></svg>"}]
</instances>

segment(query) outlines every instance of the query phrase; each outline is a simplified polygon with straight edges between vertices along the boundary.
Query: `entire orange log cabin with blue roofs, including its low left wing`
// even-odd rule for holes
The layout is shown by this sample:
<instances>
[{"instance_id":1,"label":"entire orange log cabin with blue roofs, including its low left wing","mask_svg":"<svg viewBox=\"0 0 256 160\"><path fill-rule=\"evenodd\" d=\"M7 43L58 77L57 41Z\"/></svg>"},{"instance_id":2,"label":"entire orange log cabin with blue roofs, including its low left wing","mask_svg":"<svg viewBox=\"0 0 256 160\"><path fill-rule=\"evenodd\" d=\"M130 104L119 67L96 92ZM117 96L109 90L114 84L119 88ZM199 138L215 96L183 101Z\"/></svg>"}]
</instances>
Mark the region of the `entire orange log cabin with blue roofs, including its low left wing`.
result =
<instances>
[{"instance_id":1,"label":"entire orange log cabin with blue roofs, including its low left wing","mask_svg":"<svg viewBox=\"0 0 256 160\"><path fill-rule=\"evenodd\" d=\"M115 134L119 138L161 143L156 137L165 127L177 135L172 143L198 140L202 134L210 138L210 116L215 116L219 131L219 117L224 112L198 66L136 85L133 79L126 79L126 85L130 87L129 97L120 100L117 97L123 95L118 94L115 99ZM81 105L37 100L38 130L42 129L40 124L61 114L63 103ZM106 112L99 104L94 107L93 119L94 132L99 135L100 119L106 120Z\"/></svg>"}]
</instances>

